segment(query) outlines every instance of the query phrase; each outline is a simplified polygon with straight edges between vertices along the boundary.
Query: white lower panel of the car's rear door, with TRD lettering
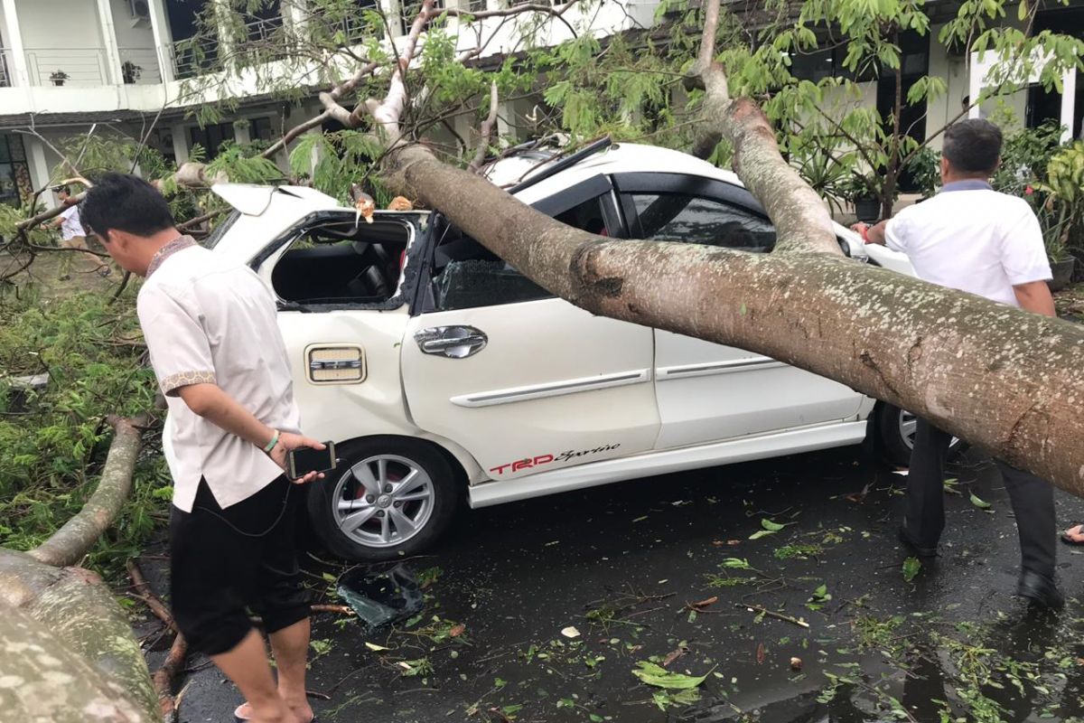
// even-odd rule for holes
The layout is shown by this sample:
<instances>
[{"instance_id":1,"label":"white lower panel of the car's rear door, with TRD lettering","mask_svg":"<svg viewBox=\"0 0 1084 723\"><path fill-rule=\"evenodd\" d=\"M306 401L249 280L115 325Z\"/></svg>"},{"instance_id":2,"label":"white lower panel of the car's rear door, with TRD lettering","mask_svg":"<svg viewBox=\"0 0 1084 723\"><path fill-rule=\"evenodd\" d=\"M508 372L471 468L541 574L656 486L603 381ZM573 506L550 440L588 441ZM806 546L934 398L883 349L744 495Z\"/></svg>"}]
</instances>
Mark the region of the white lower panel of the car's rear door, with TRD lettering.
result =
<instances>
[{"instance_id":1,"label":"white lower panel of the car's rear door, with TRD lettering","mask_svg":"<svg viewBox=\"0 0 1084 723\"><path fill-rule=\"evenodd\" d=\"M488 345L465 359L423 353L414 335L439 326L476 327ZM424 313L402 347L414 423L455 439L500 480L650 450L651 365L650 328L556 298Z\"/></svg>"}]
</instances>

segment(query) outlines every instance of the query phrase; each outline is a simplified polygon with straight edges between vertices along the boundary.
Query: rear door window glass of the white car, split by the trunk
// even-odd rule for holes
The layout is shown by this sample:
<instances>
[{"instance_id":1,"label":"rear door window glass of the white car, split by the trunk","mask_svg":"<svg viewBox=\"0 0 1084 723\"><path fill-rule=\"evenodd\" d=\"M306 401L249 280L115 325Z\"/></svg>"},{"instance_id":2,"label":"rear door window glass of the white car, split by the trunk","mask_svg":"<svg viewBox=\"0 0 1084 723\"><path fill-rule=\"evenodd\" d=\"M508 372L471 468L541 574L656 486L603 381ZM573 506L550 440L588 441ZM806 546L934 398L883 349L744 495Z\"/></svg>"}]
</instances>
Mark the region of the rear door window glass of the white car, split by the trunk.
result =
<instances>
[{"instance_id":1,"label":"rear door window glass of the white car, split by the trunk","mask_svg":"<svg viewBox=\"0 0 1084 723\"><path fill-rule=\"evenodd\" d=\"M556 216L577 229L608 235L601 196ZM438 311L533 301L553 296L474 238L457 231L437 246L434 287Z\"/></svg>"}]
</instances>

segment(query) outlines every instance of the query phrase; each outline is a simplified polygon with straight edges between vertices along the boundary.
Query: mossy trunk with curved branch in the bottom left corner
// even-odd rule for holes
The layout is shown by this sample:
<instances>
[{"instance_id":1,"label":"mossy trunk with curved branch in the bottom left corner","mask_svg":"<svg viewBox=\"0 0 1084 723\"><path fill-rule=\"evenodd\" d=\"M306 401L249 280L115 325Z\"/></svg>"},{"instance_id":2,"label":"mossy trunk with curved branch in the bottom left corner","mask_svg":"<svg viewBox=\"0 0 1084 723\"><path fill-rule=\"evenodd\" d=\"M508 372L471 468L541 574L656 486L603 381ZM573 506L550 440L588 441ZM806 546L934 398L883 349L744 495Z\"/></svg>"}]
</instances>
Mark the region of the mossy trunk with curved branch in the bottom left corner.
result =
<instances>
[{"instance_id":1,"label":"mossy trunk with curved branch in the bottom left corner","mask_svg":"<svg viewBox=\"0 0 1084 723\"><path fill-rule=\"evenodd\" d=\"M131 490L137 422L115 419L82 511L30 553L0 548L0 723L155 721L158 698L128 617L79 560Z\"/></svg>"}]
</instances>

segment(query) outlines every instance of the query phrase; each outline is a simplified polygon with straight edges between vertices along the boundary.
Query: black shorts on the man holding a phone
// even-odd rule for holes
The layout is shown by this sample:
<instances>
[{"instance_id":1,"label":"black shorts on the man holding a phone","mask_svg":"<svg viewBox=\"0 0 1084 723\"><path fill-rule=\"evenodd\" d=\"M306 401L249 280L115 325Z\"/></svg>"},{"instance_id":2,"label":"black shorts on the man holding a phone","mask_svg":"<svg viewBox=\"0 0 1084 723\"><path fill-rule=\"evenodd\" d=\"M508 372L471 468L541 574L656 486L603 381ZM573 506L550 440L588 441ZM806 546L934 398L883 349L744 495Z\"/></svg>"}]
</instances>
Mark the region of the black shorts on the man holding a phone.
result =
<instances>
[{"instance_id":1,"label":"black shorts on the man holding a phone","mask_svg":"<svg viewBox=\"0 0 1084 723\"><path fill-rule=\"evenodd\" d=\"M263 618L268 633L309 617L297 564L300 499L301 489L279 477L222 509L199 480L192 512L172 508L170 598L191 649L232 650L253 629L249 610Z\"/></svg>"}]
</instances>

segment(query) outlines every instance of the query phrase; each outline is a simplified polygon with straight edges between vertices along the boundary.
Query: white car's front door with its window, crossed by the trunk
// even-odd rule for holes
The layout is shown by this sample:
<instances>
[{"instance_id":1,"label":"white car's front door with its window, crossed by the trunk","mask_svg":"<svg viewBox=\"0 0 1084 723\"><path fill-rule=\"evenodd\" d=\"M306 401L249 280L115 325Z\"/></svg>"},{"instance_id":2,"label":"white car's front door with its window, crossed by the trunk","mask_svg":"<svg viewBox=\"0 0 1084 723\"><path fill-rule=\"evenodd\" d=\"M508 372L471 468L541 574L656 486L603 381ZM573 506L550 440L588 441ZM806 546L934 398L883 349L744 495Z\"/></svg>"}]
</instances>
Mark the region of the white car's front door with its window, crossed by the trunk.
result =
<instances>
[{"instance_id":1,"label":"white car's front door with its window, crossed by the trunk","mask_svg":"<svg viewBox=\"0 0 1084 723\"><path fill-rule=\"evenodd\" d=\"M633 238L767 251L775 231L748 191L678 173L614 179ZM657 449L841 421L863 397L822 376L743 349L656 331Z\"/></svg>"}]
</instances>

